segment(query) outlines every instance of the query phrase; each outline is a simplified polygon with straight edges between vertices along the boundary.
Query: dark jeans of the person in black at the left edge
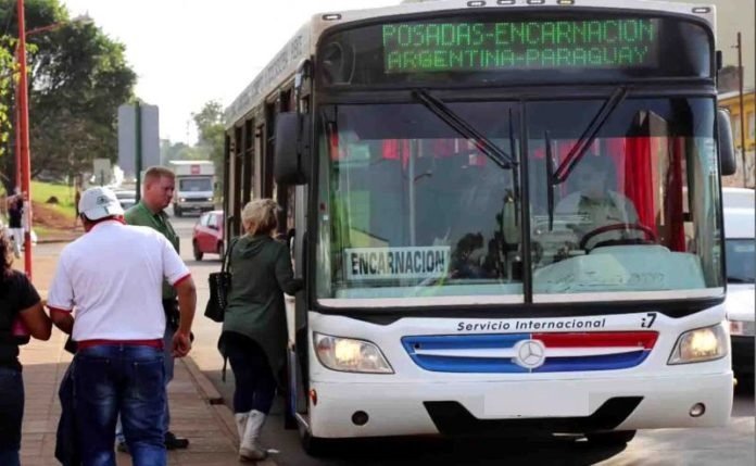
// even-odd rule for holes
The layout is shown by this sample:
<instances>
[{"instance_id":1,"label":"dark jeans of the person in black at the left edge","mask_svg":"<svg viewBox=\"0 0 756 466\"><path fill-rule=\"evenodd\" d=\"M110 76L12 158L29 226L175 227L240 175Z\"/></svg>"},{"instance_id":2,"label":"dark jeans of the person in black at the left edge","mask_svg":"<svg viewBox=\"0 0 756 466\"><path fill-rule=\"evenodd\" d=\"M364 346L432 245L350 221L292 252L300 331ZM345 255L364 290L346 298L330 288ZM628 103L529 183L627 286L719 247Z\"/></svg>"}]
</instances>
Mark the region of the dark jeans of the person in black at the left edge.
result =
<instances>
[{"instance_id":1,"label":"dark jeans of the person in black at the left edge","mask_svg":"<svg viewBox=\"0 0 756 466\"><path fill-rule=\"evenodd\" d=\"M24 379L21 370L0 367L0 465L18 466Z\"/></svg>"}]
</instances>

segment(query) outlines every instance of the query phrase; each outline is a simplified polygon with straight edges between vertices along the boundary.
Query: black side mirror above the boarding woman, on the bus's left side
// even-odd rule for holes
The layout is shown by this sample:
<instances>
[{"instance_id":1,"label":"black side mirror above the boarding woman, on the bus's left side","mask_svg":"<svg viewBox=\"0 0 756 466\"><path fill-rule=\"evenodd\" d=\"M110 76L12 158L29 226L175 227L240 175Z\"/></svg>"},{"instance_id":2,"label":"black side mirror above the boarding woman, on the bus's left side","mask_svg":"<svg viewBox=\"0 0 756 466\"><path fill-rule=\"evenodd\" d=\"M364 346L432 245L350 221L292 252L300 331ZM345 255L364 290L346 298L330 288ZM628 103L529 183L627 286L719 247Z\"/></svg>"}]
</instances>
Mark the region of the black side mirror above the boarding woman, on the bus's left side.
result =
<instances>
[{"instance_id":1,"label":"black side mirror above the boarding woman, on the bus's left side","mask_svg":"<svg viewBox=\"0 0 756 466\"><path fill-rule=\"evenodd\" d=\"M306 185L310 162L310 115L294 112L276 117L273 173L281 185Z\"/></svg>"}]
</instances>

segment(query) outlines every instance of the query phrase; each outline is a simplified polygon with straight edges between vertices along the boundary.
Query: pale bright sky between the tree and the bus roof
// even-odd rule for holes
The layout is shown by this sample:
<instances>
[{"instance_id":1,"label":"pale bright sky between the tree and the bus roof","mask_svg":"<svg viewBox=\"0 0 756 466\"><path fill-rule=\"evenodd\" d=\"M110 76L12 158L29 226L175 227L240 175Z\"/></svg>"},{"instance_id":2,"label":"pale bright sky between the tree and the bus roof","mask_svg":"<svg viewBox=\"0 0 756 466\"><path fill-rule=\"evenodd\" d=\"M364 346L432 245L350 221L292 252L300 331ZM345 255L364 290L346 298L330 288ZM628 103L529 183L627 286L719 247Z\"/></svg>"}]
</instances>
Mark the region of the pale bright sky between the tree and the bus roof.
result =
<instances>
[{"instance_id":1,"label":"pale bright sky between the tree and the bus roof","mask_svg":"<svg viewBox=\"0 0 756 466\"><path fill-rule=\"evenodd\" d=\"M126 46L136 95L160 110L160 137L194 143L205 102L224 108L314 13L399 0L61 0Z\"/></svg>"}]
</instances>

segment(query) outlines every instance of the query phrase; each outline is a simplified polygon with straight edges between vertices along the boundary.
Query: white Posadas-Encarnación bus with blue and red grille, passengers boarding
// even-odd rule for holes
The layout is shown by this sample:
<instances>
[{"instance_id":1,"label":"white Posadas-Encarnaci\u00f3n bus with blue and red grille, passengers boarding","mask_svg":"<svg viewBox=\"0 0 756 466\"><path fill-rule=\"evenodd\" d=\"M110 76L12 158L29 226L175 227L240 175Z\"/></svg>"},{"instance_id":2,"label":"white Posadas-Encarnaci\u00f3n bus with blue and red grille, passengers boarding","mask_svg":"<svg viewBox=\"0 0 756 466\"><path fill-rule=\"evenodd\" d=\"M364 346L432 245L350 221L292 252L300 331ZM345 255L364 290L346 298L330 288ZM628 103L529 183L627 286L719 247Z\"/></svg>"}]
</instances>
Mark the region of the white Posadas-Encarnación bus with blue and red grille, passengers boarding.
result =
<instances>
[{"instance_id":1,"label":"white Posadas-Encarnaci\u00f3n bus with blue and red grille, passengers boarding","mask_svg":"<svg viewBox=\"0 0 756 466\"><path fill-rule=\"evenodd\" d=\"M329 439L625 443L732 404L713 7L450 0L329 12L227 109L305 282L289 419Z\"/></svg>"}]
</instances>

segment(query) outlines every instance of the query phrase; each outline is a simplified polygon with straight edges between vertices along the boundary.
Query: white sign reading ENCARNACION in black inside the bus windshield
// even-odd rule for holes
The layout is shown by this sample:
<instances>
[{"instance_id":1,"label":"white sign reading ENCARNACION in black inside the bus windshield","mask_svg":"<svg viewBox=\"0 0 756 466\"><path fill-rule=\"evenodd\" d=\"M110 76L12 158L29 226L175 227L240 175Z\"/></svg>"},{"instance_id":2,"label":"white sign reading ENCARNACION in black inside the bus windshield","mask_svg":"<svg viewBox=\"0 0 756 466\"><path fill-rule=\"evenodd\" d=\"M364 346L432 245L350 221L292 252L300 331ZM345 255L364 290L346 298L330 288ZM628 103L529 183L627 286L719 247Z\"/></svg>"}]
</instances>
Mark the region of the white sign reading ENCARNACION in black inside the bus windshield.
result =
<instances>
[{"instance_id":1,"label":"white sign reading ENCARNACION in black inside the bus windshield","mask_svg":"<svg viewBox=\"0 0 756 466\"><path fill-rule=\"evenodd\" d=\"M346 279L440 278L449 272L449 247L344 250Z\"/></svg>"}]
</instances>

